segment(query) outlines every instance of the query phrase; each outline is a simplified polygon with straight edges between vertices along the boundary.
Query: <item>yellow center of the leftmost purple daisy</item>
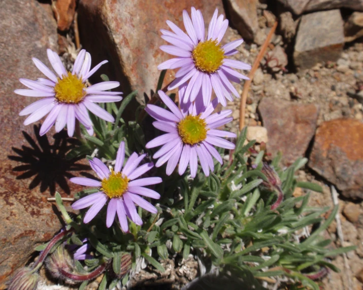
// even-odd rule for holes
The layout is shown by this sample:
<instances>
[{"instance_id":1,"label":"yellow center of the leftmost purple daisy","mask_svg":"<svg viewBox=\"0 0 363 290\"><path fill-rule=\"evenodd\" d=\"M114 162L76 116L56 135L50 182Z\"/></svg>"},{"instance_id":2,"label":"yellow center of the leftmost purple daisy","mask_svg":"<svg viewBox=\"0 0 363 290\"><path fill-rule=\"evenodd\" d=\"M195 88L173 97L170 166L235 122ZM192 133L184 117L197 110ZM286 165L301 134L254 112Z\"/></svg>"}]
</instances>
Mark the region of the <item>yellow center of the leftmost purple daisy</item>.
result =
<instances>
[{"instance_id":1,"label":"yellow center of the leftmost purple daisy","mask_svg":"<svg viewBox=\"0 0 363 290\"><path fill-rule=\"evenodd\" d=\"M79 103L86 95L86 85L69 71L63 79L58 78L54 86L55 98L62 103Z\"/></svg>"}]
</instances>

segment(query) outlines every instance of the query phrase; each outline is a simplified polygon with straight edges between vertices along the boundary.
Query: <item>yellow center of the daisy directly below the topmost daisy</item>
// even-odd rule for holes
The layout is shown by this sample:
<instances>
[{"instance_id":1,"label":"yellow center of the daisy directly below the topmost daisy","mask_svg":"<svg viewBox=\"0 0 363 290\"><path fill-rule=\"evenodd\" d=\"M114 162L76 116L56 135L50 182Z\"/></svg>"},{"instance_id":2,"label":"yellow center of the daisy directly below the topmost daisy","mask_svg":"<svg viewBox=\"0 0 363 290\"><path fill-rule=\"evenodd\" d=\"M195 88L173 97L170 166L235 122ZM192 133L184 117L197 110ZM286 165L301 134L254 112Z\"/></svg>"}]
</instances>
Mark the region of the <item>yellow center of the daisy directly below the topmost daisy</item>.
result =
<instances>
[{"instance_id":1,"label":"yellow center of the daisy directly below the topmost daisy","mask_svg":"<svg viewBox=\"0 0 363 290\"><path fill-rule=\"evenodd\" d=\"M207 123L198 116L187 116L178 123L179 136L186 144L194 145L207 137Z\"/></svg>"}]
</instances>

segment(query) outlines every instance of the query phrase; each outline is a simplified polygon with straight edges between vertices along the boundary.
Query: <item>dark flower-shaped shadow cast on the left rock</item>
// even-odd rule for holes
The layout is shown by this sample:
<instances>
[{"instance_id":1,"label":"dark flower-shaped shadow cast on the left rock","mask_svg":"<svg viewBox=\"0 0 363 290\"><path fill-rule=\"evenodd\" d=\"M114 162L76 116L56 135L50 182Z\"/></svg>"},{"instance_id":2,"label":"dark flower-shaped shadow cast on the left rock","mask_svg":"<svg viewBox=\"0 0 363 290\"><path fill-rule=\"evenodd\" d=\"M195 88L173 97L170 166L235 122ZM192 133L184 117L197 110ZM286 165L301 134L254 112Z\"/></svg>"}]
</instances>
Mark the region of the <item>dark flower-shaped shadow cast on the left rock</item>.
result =
<instances>
[{"instance_id":1,"label":"dark flower-shaped shadow cast on the left rock","mask_svg":"<svg viewBox=\"0 0 363 290\"><path fill-rule=\"evenodd\" d=\"M76 163L83 157L67 160L66 154L77 146L79 141L67 136L67 131L60 131L53 135L54 143L50 144L46 135L39 135L40 126L34 125L34 140L28 133L22 131L28 146L21 149L12 148L17 156L8 156L9 159L24 163L13 168L13 171L25 171L16 179L32 178L29 189L40 185L40 191L49 189L50 194L55 194L56 184L67 194L71 193L67 179L74 177L70 171L89 170L88 165ZM67 179L66 179L67 177Z\"/></svg>"}]
</instances>

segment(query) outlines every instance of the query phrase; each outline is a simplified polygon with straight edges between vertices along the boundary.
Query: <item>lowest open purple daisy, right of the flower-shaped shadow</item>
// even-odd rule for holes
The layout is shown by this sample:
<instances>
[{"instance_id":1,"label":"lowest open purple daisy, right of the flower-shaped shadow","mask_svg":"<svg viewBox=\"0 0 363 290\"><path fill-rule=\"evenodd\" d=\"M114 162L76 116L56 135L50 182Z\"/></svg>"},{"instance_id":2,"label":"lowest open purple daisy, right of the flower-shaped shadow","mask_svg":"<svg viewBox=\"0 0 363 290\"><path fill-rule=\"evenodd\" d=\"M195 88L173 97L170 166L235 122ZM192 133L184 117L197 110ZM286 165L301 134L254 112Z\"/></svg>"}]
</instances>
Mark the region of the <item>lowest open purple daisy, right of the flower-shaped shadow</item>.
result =
<instances>
[{"instance_id":1,"label":"lowest open purple daisy, right of the flower-shaped shadow","mask_svg":"<svg viewBox=\"0 0 363 290\"><path fill-rule=\"evenodd\" d=\"M72 204L73 209L82 209L92 205L84 216L83 222L85 224L89 223L100 212L108 200L110 201L107 206L106 217L106 226L108 228L112 226L116 212L121 229L124 232L128 231L126 216L135 224L141 226L143 222L137 212L135 203L151 213L157 213L157 209L140 195L159 199L160 195L157 192L144 188L144 186L161 183L161 178L146 177L136 180L153 167L152 162L139 166L145 156L146 154L138 156L134 152L130 155L121 171L125 159L125 143L121 142L117 151L115 168L107 168L98 158L89 161L89 165L101 178L101 182L86 177L73 177L70 179L75 184L100 188L99 192L85 196Z\"/></svg>"}]
</instances>

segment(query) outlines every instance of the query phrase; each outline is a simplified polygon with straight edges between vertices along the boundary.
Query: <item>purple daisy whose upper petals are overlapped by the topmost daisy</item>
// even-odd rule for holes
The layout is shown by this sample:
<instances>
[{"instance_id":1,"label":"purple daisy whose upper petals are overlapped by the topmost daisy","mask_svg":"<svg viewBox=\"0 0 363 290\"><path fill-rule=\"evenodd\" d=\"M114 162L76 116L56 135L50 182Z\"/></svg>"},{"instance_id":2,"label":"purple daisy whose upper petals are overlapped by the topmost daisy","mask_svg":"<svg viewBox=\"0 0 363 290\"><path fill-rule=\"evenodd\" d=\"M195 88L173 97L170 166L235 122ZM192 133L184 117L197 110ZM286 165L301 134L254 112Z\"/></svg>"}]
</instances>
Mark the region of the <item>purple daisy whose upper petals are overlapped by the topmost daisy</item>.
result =
<instances>
[{"instance_id":1,"label":"purple daisy whose upper petals are overlapped by the topmost daisy","mask_svg":"<svg viewBox=\"0 0 363 290\"><path fill-rule=\"evenodd\" d=\"M235 133L215 129L232 121L232 117L227 118L232 111L212 114L218 100L214 99L205 107L201 98L190 104L189 110L182 111L163 91L158 91L158 94L171 112L151 104L145 108L157 120L153 126L167 132L146 144L146 148L162 145L153 156L158 158L155 166L159 167L168 161L167 174L170 175L179 162L179 174L182 175L189 163L191 177L195 177L199 158L204 173L209 176L209 170L214 170L212 156L222 164L222 158L213 146L235 148L234 143L221 138L235 138ZM183 92L179 92L179 95L183 95Z\"/></svg>"}]
</instances>

